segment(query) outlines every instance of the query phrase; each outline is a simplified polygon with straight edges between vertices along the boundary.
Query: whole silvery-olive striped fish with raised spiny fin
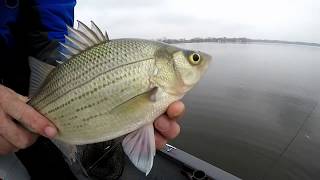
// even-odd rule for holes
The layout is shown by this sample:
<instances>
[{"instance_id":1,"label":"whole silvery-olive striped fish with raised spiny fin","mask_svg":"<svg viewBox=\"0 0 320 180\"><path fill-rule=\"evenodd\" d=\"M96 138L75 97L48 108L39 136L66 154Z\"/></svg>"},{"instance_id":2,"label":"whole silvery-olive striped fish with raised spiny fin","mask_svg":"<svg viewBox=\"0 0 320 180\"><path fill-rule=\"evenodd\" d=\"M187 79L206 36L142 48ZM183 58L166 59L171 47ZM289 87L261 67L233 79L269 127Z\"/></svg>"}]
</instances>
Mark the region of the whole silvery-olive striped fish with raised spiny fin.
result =
<instances>
[{"instance_id":1,"label":"whole silvery-olive striped fish with raised spiny fin","mask_svg":"<svg viewBox=\"0 0 320 180\"><path fill-rule=\"evenodd\" d=\"M156 152L153 121L200 80L211 59L158 41L109 40L93 22L68 27L61 54L57 66L30 58L29 104L68 144L126 135L125 153L146 174Z\"/></svg>"}]
</instances>

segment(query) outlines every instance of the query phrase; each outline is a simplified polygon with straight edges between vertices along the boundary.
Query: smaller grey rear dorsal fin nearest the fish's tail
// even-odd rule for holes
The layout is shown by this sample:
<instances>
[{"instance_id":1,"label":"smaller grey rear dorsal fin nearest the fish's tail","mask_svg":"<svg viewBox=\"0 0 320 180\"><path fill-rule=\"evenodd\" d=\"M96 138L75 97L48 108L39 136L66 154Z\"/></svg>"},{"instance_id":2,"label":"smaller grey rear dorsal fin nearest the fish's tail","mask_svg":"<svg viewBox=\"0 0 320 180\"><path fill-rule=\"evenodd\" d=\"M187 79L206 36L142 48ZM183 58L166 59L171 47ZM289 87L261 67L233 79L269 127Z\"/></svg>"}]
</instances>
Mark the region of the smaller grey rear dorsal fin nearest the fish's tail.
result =
<instances>
[{"instance_id":1,"label":"smaller grey rear dorsal fin nearest the fish's tail","mask_svg":"<svg viewBox=\"0 0 320 180\"><path fill-rule=\"evenodd\" d=\"M42 62L34 57L29 57L29 66L31 70L29 97L33 97L55 66Z\"/></svg>"}]
</instances>

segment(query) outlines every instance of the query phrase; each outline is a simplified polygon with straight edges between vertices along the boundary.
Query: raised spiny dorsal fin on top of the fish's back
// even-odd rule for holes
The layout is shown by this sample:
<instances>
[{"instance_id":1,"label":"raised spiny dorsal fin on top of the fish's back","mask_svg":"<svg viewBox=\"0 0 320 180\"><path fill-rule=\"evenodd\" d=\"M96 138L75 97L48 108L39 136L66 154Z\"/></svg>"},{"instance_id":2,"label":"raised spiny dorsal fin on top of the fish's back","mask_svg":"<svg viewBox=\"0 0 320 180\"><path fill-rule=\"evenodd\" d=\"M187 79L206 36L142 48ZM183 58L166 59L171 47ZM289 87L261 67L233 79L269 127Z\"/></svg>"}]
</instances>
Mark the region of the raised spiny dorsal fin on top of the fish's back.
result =
<instances>
[{"instance_id":1,"label":"raised spiny dorsal fin on top of the fish's back","mask_svg":"<svg viewBox=\"0 0 320 180\"><path fill-rule=\"evenodd\" d=\"M94 45L109 41L108 35L103 35L93 21L91 21L91 29L81 21L78 21L78 29L69 26L67 29L68 35L65 36L65 43L61 43L60 47L59 64Z\"/></svg>"}]
</instances>

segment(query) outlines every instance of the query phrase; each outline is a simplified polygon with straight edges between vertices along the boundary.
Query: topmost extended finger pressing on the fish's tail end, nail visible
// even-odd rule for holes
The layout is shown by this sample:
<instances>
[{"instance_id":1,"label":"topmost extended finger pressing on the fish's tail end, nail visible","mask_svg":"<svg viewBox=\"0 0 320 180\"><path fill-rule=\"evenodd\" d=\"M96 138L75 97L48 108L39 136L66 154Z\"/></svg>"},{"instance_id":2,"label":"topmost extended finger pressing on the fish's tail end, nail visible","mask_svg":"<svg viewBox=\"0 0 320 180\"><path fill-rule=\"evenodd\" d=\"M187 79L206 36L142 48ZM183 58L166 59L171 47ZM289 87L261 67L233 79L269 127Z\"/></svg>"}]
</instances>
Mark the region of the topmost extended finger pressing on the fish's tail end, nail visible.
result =
<instances>
[{"instance_id":1,"label":"topmost extended finger pressing on the fish's tail end, nail visible","mask_svg":"<svg viewBox=\"0 0 320 180\"><path fill-rule=\"evenodd\" d=\"M20 101L17 96L7 96L2 98L2 108L11 117L21 122L27 128L31 128L34 132L54 137L57 134L55 126L44 116L34 110L31 106Z\"/></svg>"}]
</instances>

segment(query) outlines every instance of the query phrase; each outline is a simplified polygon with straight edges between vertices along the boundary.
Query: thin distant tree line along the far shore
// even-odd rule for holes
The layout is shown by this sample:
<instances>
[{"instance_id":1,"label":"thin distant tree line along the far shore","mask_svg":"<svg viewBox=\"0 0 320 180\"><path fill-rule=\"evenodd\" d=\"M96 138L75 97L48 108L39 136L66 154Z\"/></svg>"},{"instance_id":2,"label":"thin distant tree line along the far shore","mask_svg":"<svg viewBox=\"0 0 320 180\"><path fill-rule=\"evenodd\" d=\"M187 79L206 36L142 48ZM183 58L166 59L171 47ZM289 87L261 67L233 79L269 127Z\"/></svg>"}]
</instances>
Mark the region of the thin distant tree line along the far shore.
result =
<instances>
[{"instance_id":1,"label":"thin distant tree line along the far shore","mask_svg":"<svg viewBox=\"0 0 320 180\"><path fill-rule=\"evenodd\" d=\"M177 43L201 43L201 42L216 42L216 43L281 43L281 44L298 44L298 45L307 45L307 46L319 46L318 43L309 43L309 42L295 42L295 41L281 41L281 40L266 40L266 39L249 39L249 38L192 38L192 39L158 39L159 41L177 44Z\"/></svg>"}]
</instances>

